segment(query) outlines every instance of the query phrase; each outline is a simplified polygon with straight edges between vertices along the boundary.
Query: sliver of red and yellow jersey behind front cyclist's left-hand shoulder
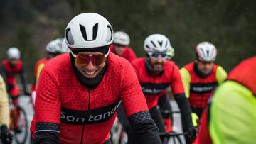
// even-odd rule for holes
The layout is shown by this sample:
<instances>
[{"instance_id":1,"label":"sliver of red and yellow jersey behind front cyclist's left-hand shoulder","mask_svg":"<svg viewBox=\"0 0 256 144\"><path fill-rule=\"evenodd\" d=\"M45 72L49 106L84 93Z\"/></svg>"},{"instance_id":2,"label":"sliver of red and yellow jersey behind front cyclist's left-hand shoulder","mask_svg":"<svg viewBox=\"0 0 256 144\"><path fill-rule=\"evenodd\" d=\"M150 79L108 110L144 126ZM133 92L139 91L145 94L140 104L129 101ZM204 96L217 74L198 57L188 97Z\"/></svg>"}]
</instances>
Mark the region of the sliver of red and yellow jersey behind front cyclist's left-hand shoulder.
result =
<instances>
[{"instance_id":1,"label":"sliver of red and yellow jersey behind front cyclist's left-hand shoulder","mask_svg":"<svg viewBox=\"0 0 256 144\"><path fill-rule=\"evenodd\" d=\"M39 74L42 70L42 68L44 67L44 65L46 65L46 63L49 61L50 59L47 58L43 58L41 60L38 60L38 62L36 62L35 65L35 70L34 70L34 82L31 85L31 91L36 91L36 82L39 78Z\"/></svg>"}]
</instances>

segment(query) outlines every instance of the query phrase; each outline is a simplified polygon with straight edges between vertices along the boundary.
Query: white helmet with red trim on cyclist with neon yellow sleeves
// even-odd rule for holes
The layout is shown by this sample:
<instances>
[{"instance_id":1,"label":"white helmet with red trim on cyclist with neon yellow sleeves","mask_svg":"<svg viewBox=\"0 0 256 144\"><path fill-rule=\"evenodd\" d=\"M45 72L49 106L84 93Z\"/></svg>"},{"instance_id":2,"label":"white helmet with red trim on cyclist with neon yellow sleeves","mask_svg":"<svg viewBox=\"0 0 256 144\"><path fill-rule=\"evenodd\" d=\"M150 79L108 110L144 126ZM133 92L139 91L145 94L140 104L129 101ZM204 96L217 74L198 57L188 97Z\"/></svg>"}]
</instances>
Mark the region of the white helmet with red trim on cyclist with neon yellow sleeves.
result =
<instances>
[{"instance_id":1,"label":"white helmet with red trim on cyclist with neon yellow sleeves","mask_svg":"<svg viewBox=\"0 0 256 144\"><path fill-rule=\"evenodd\" d=\"M203 41L196 46L196 57L203 62L213 62L217 56L217 49L213 43Z\"/></svg>"}]
</instances>

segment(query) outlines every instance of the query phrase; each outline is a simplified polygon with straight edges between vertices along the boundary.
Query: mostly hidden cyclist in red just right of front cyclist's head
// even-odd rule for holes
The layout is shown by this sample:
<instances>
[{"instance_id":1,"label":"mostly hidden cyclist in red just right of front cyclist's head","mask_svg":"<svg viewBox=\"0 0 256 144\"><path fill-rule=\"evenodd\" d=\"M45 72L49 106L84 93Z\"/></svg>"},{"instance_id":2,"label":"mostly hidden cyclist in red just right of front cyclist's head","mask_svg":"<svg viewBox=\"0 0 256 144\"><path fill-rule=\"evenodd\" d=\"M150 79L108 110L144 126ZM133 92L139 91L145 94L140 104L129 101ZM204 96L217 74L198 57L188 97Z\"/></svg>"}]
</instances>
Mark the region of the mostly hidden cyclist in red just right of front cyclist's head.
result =
<instances>
[{"instance_id":1,"label":"mostly hidden cyclist in red just right of front cyclist's head","mask_svg":"<svg viewBox=\"0 0 256 144\"><path fill-rule=\"evenodd\" d=\"M120 57L124 57L129 62L136 59L136 55L132 48L129 48L130 38L127 33L123 31L117 31L114 33L113 44L110 45L110 52L113 52Z\"/></svg>"}]
</instances>

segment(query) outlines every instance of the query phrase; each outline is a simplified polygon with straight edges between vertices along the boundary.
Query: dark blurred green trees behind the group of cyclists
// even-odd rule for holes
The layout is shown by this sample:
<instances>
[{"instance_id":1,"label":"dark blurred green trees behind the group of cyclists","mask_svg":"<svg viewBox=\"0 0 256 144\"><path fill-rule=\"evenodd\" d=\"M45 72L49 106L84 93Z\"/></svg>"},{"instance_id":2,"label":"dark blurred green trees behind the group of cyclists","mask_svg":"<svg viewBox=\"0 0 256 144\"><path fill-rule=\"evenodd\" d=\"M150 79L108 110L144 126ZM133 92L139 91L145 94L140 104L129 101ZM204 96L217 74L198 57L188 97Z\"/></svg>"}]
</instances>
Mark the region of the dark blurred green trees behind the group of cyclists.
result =
<instances>
[{"instance_id":1,"label":"dark blurred green trees behind the group of cyclists","mask_svg":"<svg viewBox=\"0 0 256 144\"><path fill-rule=\"evenodd\" d=\"M48 41L63 37L68 21L84 12L100 13L112 23L114 31L127 32L139 57L144 56L144 39L153 33L171 40L176 51L174 60L180 66L194 60L194 49L203 40L218 48L217 62L226 70L256 54L254 0L1 1L0 52L4 54L14 44L21 47L33 72L31 62L43 57ZM0 55L1 60L4 57Z\"/></svg>"}]
</instances>

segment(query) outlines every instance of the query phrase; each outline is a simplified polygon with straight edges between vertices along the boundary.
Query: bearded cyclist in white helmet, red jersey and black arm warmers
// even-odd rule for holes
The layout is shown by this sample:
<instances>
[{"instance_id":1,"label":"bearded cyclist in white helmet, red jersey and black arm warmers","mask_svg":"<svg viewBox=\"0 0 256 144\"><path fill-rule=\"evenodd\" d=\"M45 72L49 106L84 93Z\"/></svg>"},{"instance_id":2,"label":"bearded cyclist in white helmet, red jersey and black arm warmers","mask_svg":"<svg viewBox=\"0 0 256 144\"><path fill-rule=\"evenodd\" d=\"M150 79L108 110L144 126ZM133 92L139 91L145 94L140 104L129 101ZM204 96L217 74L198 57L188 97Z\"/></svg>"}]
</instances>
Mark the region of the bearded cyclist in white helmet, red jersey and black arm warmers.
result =
<instances>
[{"instance_id":1,"label":"bearded cyclist in white helmet, red jersey and black arm warmers","mask_svg":"<svg viewBox=\"0 0 256 144\"><path fill-rule=\"evenodd\" d=\"M166 94L166 88L171 86L174 98L181 109L182 118L186 121L186 128L191 139L196 135L191 121L191 109L184 94L181 75L174 62L166 60L167 50L170 47L169 39L161 34L149 35L144 40L146 57L132 61L137 73L142 92L146 98L151 117L160 132L165 132L163 118L156 109L159 96Z\"/></svg>"}]
</instances>

